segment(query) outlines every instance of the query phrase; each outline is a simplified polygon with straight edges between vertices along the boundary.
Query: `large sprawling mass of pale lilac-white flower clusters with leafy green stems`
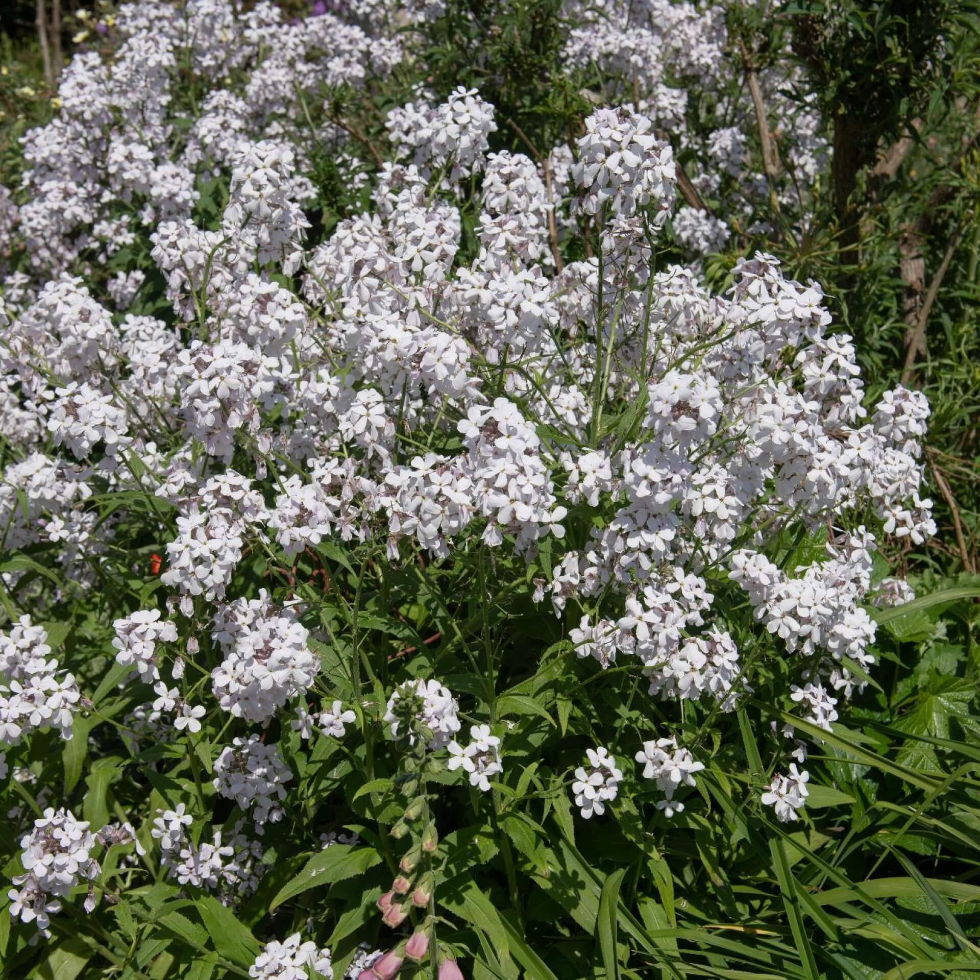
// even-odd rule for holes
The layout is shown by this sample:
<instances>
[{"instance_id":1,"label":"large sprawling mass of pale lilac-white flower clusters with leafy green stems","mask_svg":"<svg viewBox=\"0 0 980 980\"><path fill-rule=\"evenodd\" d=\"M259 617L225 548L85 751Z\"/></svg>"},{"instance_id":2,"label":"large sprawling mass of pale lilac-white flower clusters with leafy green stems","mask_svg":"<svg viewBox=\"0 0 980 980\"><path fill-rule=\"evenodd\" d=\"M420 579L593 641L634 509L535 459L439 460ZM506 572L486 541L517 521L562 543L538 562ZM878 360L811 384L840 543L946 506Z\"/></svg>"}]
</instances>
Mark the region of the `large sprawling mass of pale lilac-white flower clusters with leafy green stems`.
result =
<instances>
[{"instance_id":1,"label":"large sprawling mass of pale lilac-white flower clusters with leafy green stems","mask_svg":"<svg viewBox=\"0 0 980 980\"><path fill-rule=\"evenodd\" d=\"M433 786L508 824L570 782L581 818L617 820L634 780L610 749L563 769L602 740L649 781L636 809L693 825L683 788L720 772L736 709L764 715L773 766L803 765L798 730L833 731L875 669L875 608L914 598L881 552L936 532L930 409L869 397L816 282L755 249L727 278L702 262L765 233L760 200L787 226L801 207L753 171L717 5L567 0L569 91L597 71L617 104L550 145L477 89L403 84L443 0L241 6L123 4L0 189L0 779L46 806L43 733L74 726L55 783L121 821L46 809L11 911L44 932L73 889L115 901L141 879L100 853L102 882L90 854L123 845L162 869L123 927L158 891L240 909L311 841L317 873L369 871L377 819L405 841L377 902L405 935L355 955L352 904L333 954L296 932L250 976L331 978L335 954L360 980L429 956L461 980ZM757 80L812 176L795 71ZM81 780L86 753L112 761ZM796 820L808 780L791 763L753 806ZM133 786L152 802L126 813Z\"/></svg>"}]
</instances>

